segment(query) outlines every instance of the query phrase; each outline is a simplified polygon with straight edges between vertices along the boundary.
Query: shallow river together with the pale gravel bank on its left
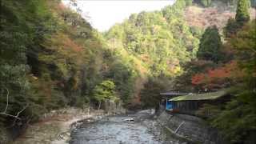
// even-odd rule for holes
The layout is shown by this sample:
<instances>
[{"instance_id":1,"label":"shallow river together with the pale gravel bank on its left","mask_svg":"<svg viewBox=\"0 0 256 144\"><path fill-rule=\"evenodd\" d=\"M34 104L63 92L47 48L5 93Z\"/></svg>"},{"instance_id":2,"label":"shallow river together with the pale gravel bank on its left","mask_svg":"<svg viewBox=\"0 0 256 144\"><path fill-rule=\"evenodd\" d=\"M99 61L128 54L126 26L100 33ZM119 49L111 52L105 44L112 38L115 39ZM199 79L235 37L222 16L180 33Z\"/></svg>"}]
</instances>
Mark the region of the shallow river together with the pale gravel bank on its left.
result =
<instances>
[{"instance_id":1,"label":"shallow river together with the pale gravel bank on its left","mask_svg":"<svg viewBox=\"0 0 256 144\"><path fill-rule=\"evenodd\" d=\"M106 114L103 110L58 110L28 127L14 144L189 144L174 137L154 110Z\"/></svg>"}]
</instances>

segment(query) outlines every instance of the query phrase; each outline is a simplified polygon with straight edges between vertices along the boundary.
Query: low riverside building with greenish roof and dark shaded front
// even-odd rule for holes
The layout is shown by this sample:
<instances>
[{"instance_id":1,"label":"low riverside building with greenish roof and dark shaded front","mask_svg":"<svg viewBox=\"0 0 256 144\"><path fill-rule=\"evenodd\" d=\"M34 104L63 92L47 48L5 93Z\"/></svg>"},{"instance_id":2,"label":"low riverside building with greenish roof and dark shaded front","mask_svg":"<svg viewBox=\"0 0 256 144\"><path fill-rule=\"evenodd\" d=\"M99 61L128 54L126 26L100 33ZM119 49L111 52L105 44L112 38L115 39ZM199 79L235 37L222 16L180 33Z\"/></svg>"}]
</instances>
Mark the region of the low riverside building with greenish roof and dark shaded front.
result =
<instances>
[{"instance_id":1,"label":"low riverside building with greenish roof and dark shaded front","mask_svg":"<svg viewBox=\"0 0 256 144\"><path fill-rule=\"evenodd\" d=\"M169 99L172 112L192 115L195 115L204 104L218 105L228 101L230 101L230 94L226 94L225 90L205 94L187 94ZM210 115L210 110L208 114Z\"/></svg>"}]
</instances>

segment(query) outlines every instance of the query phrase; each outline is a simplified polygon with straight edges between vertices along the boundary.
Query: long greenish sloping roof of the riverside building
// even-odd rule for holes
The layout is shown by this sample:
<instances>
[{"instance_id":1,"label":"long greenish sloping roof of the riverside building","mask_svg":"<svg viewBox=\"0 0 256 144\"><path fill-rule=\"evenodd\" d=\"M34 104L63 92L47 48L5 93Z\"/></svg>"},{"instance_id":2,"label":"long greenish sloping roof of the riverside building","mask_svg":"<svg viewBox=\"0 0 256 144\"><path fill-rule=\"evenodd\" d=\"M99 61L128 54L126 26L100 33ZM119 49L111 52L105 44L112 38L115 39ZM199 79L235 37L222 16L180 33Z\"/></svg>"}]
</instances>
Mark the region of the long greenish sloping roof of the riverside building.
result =
<instances>
[{"instance_id":1,"label":"long greenish sloping roof of the riverside building","mask_svg":"<svg viewBox=\"0 0 256 144\"><path fill-rule=\"evenodd\" d=\"M217 92L205 93L205 94L189 94L176 98L171 98L169 101L198 101L198 100L212 100L220 98L226 95L226 90L219 90Z\"/></svg>"}]
</instances>

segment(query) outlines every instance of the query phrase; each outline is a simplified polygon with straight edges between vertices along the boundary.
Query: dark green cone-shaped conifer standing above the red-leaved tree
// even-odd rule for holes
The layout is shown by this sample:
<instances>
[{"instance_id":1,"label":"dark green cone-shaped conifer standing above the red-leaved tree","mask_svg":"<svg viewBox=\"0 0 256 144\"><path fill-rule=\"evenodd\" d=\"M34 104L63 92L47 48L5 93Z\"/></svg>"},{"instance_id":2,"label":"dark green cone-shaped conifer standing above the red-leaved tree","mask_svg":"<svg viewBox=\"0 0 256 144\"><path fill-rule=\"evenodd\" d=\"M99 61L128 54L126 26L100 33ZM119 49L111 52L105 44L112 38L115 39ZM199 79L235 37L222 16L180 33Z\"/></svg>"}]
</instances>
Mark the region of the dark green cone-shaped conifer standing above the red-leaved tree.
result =
<instances>
[{"instance_id":1,"label":"dark green cone-shaped conifer standing above the red-leaved tree","mask_svg":"<svg viewBox=\"0 0 256 144\"><path fill-rule=\"evenodd\" d=\"M222 41L216 26L210 26L202 34L197 57L200 60L218 62L222 59Z\"/></svg>"}]
</instances>

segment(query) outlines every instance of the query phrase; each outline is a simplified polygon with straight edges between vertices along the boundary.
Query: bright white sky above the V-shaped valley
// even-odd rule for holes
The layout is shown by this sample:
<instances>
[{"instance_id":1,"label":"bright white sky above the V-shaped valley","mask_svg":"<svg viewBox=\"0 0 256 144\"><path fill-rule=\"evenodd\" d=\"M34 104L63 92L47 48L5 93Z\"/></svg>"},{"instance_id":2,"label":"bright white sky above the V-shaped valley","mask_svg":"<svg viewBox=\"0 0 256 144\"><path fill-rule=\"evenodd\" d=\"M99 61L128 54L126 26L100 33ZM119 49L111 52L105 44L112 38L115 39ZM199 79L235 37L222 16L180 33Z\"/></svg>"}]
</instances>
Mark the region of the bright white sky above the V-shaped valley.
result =
<instances>
[{"instance_id":1,"label":"bright white sky above the V-shaped valley","mask_svg":"<svg viewBox=\"0 0 256 144\"><path fill-rule=\"evenodd\" d=\"M62 0L68 5L70 0ZM161 10L174 0L77 0L82 16L99 31L109 30L115 23L141 11Z\"/></svg>"}]
</instances>

